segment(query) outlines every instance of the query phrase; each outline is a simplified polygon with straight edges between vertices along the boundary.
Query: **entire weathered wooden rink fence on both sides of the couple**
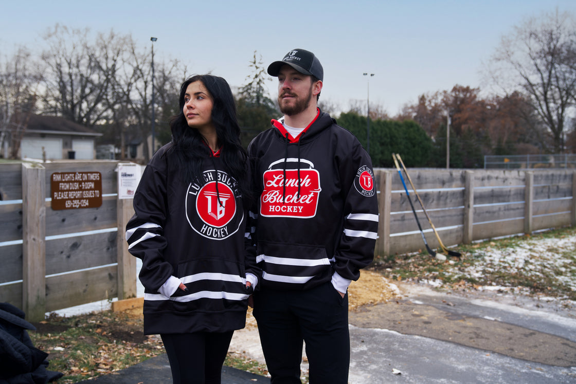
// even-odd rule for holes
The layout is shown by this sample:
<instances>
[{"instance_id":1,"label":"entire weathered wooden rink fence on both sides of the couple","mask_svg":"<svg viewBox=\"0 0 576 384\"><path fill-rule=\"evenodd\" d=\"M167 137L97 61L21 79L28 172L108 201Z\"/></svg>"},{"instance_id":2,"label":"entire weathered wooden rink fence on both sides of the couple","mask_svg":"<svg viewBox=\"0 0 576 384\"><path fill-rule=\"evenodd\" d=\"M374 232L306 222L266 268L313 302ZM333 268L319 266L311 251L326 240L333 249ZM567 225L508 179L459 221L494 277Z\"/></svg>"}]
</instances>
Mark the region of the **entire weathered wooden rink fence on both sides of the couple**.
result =
<instances>
[{"instance_id":1,"label":"entire weathered wooden rink fence on both sides of the couple","mask_svg":"<svg viewBox=\"0 0 576 384\"><path fill-rule=\"evenodd\" d=\"M0 164L0 302L41 320L48 311L136 295L136 260L124 240L132 200L118 199L117 167L116 161ZM100 172L101 206L53 210L56 172ZM446 246L576 225L573 170L408 172ZM376 254L423 249L396 170L375 169L374 176L380 203ZM437 248L407 185L427 241Z\"/></svg>"}]
</instances>

